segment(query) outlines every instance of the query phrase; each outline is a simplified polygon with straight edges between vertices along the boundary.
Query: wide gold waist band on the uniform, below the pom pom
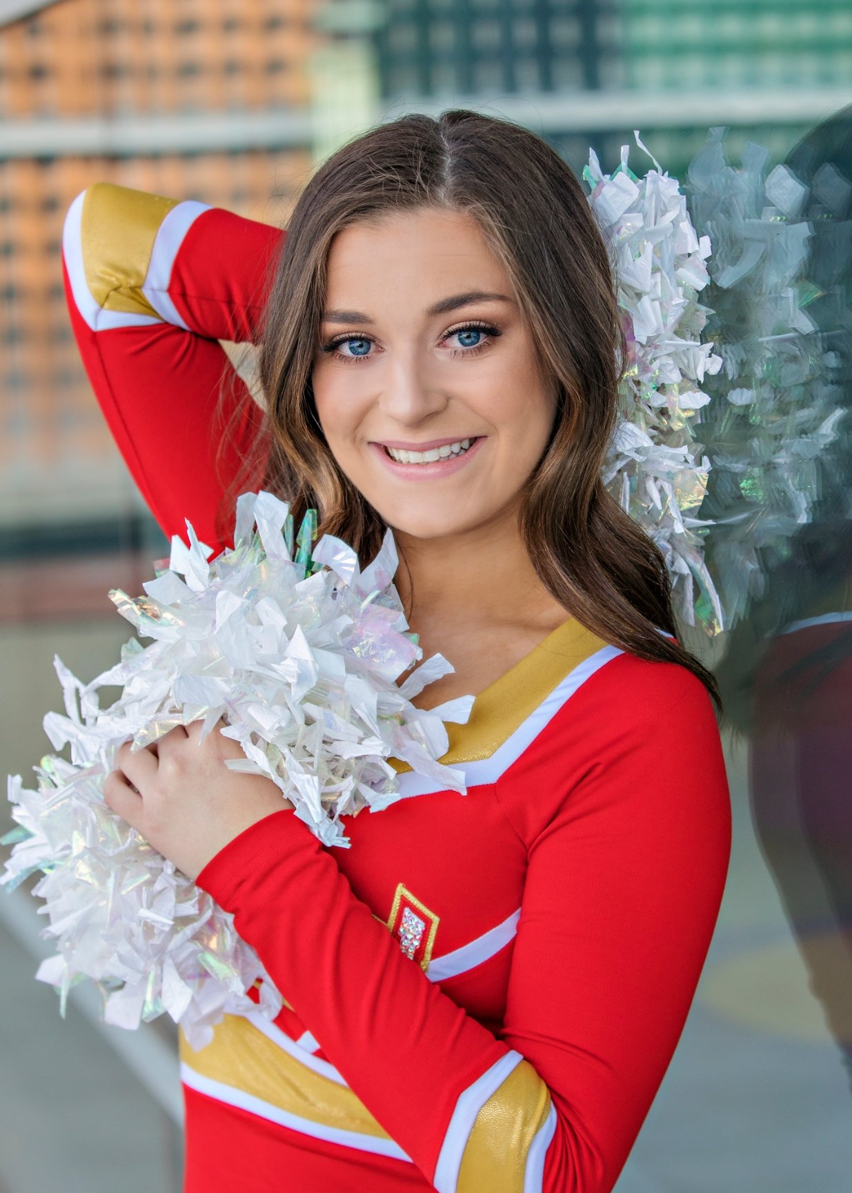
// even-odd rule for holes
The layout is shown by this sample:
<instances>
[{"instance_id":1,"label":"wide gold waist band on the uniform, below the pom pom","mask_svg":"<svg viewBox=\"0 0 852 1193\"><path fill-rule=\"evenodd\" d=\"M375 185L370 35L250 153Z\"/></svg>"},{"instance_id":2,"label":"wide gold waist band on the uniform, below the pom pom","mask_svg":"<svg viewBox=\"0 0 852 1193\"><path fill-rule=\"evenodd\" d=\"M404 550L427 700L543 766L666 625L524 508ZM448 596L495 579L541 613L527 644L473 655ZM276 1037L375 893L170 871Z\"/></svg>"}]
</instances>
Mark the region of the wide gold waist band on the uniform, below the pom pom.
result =
<instances>
[{"instance_id":1,"label":"wide gold waist band on the uniform, below the pom pom","mask_svg":"<svg viewBox=\"0 0 852 1193\"><path fill-rule=\"evenodd\" d=\"M197 1052L183 1031L179 1041L180 1059L193 1073L311 1123L390 1139L357 1094L301 1064L242 1015L226 1015Z\"/></svg>"}]
</instances>

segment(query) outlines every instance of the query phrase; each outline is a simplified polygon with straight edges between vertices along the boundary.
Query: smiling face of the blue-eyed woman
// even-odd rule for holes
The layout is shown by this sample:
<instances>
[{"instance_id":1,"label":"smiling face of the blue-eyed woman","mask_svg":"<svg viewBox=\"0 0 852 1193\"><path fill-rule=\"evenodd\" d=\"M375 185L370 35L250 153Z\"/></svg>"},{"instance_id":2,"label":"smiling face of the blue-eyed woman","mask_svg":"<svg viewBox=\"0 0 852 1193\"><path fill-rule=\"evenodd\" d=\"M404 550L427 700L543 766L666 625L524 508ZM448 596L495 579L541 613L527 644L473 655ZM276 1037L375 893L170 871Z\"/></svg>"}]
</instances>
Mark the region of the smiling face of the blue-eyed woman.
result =
<instances>
[{"instance_id":1,"label":"smiling face of the blue-eyed woman","mask_svg":"<svg viewBox=\"0 0 852 1193\"><path fill-rule=\"evenodd\" d=\"M479 295L464 292L471 279ZM510 289L465 214L425 206L334 237L327 301L345 307L356 291L371 314L346 320L332 310L337 317L323 320L311 378L316 412L339 466L393 521L403 554L412 538L451 542L495 520L517 521L518 495L544 453L555 396ZM335 322L365 330L327 339L326 324ZM350 363L360 366L354 376L340 367Z\"/></svg>"}]
</instances>

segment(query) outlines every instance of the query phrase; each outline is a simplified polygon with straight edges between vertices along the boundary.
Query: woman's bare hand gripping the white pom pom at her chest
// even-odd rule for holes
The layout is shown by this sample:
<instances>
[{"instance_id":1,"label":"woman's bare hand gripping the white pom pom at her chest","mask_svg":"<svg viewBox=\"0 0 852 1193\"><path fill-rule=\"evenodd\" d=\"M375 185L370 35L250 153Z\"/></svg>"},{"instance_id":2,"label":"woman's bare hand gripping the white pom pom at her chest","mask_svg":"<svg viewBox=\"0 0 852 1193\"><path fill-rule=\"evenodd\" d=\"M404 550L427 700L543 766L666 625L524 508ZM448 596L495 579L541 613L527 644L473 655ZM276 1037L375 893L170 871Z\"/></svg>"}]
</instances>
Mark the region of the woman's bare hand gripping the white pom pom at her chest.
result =
<instances>
[{"instance_id":1,"label":"woman's bare hand gripping the white pom pom at her chest","mask_svg":"<svg viewBox=\"0 0 852 1193\"><path fill-rule=\"evenodd\" d=\"M246 756L220 733L224 723L220 718L204 741L203 722L193 721L135 753L125 742L104 780L107 806L193 880L245 829L292 808L272 779L224 765Z\"/></svg>"}]
</instances>

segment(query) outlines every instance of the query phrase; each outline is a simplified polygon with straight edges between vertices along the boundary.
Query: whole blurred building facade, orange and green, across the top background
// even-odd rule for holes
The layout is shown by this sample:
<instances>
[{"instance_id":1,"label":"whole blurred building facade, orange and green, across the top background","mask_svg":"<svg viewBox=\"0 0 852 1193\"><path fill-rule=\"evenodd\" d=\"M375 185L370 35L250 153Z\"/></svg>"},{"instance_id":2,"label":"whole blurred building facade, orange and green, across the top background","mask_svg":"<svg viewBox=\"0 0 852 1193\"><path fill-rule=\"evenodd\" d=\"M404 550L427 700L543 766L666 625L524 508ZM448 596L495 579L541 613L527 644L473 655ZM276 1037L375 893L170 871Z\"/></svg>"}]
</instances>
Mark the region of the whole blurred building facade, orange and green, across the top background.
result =
<instances>
[{"instance_id":1,"label":"whole blurred building facade, orange and green, across the top background","mask_svg":"<svg viewBox=\"0 0 852 1193\"><path fill-rule=\"evenodd\" d=\"M783 156L846 101L852 68L848 0L26 7L0 24L0 546L20 526L144 518L64 310L62 218L88 183L283 223L341 141L447 106L518 119L576 171L589 144L612 168L638 128L679 174L716 124L733 153L753 137Z\"/></svg>"}]
</instances>

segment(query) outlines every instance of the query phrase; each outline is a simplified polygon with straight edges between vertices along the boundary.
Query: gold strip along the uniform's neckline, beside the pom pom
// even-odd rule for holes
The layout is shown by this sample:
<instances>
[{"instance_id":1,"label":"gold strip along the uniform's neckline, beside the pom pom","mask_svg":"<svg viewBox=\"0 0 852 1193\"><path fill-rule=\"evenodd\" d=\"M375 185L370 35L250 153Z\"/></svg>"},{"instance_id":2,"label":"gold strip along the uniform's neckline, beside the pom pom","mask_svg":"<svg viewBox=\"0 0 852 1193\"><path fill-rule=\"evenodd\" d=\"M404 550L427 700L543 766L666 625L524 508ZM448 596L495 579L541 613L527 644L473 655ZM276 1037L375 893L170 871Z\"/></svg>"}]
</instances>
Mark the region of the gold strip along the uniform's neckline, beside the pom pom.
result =
<instances>
[{"instance_id":1,"label":"gold strip along the uniform's neckline, beside the pom pom","mask_svg":"<svg viewBox=\"0 0 852 1193\"><path fill-rule=\"evenodd\" d=\"M450 747L440 762L474 762L492 754L536 711L558 684L607 643L569 617L474 699L463 725L447 723ZM397 774L408 762L389 758Z\"/></svg>"}]
</instances>

